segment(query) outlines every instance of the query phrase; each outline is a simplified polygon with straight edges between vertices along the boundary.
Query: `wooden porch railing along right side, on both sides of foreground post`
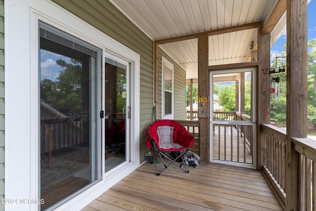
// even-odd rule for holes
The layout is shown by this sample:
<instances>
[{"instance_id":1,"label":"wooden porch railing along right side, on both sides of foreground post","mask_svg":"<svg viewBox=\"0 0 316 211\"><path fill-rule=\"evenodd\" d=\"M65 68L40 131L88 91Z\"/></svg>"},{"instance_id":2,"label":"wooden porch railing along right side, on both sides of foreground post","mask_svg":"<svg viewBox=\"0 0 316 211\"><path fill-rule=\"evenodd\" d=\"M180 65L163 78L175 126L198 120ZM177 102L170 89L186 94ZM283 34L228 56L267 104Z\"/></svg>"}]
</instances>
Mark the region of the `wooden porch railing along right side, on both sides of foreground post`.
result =
<instances>
[{"instance_id":1,"label":"wooden porch railing along right side, on both sides of foreground post","mask_svg":"<svg viewBox=\"0 0 316 211\"><path fill-rule=\"evenodd\" d=\"M266 164L263 174L274 190L277 199L285 210L286 197L295 198L296 193L286 193L286 131L272 125L262 125L264 132L264 146L266 148ZM295 175L299 182L299 210L316 210L316 142L309 138L291 138L300 164Z\"/></svg>"}]
</instances>

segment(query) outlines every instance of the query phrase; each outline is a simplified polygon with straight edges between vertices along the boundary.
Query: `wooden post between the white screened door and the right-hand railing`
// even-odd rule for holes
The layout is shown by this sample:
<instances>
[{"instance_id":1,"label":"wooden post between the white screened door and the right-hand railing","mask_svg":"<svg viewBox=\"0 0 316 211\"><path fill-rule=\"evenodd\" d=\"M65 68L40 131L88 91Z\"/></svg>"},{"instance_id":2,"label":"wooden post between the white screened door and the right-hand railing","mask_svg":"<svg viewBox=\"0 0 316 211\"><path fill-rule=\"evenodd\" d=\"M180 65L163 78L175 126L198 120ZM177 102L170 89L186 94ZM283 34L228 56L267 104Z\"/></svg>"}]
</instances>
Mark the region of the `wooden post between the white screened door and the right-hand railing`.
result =
<instances>
[{"instance_id":1,"label":"wooden post between the white screened door and the right-hand railing","mask_svg":"<svg viewBox=\"0 0 316 211\"><path fill-rule=\"evenodd\" d=\"M267 143L261 124L270 124L270 76L264 74L261 69L270 67L270 33L262 34L262 25L258 26L258 60L261 62L258 70L258 103L257 103L257 121L258 121L258 145L257 145L257 168L267 165Z\"/></svg>"}]
</instances>

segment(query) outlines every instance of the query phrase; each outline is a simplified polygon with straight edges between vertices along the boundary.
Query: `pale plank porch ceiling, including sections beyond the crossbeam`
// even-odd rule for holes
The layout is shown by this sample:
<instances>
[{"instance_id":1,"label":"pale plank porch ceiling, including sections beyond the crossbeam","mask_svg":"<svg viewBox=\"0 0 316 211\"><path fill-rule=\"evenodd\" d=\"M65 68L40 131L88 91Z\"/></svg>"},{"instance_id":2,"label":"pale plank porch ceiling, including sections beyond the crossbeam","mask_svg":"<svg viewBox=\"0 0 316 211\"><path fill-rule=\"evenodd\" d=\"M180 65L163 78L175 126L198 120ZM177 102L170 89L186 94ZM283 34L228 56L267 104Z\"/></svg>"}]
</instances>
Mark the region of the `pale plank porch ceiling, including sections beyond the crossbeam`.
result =
<instances>
[{"instance_id":1,"label":"pale plank porch ceiling, including sections beyond the crossbeam","mask_svg":"<svg viewBox=\"0 0 316 211\"><path fill-rule=\"evenodd\" d=\"M277 0L110 0L152 40L265 20ZM250 44L257 30L249 29L209 37L209 65L249 61ZM197 79L197 39L160 44Z\"/></svg>"}]
</instances>

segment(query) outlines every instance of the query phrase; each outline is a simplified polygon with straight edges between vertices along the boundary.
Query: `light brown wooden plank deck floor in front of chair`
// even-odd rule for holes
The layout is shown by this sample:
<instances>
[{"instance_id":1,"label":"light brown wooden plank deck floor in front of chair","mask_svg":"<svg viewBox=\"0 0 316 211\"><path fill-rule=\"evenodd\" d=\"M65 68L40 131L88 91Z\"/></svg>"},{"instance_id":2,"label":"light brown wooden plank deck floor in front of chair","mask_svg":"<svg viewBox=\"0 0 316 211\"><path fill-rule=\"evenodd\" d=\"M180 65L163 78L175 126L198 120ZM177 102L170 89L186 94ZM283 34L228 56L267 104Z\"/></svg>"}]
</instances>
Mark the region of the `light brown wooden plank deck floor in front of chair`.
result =
<instances>
[{"instance_id":1,"label":"light brown wooden plank deck floor in front of chair","mask_svg":"<svg viewBox=\"0 0 316 211\"><path fill-rule=\"evenodd\" d=\"M171 165L155 174L146 163L82 211L282 211L261 172L219 164Z\"/></svg>"}]
</instances>

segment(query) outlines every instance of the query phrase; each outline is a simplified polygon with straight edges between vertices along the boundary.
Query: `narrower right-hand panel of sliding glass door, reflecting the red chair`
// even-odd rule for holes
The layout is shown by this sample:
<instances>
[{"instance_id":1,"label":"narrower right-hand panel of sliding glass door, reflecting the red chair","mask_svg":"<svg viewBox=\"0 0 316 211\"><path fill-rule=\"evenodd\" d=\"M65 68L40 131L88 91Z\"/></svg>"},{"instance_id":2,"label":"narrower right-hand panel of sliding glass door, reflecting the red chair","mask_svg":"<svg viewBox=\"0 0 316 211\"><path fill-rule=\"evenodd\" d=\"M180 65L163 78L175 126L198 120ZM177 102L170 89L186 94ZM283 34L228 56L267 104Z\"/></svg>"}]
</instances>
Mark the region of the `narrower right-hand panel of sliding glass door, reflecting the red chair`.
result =
<instances>
[{"instance_id":1,"label":"narrower right-hand panel of sliding glass door, reflecting the red chair","mask_svg":"<svg viewBox=\"0 0 316 211\"><path fill-rule=\"evenodd\" d=\"M129 69L128 62L105 58L105 172L128 161Z\"/></svg>"}]
</instances>

